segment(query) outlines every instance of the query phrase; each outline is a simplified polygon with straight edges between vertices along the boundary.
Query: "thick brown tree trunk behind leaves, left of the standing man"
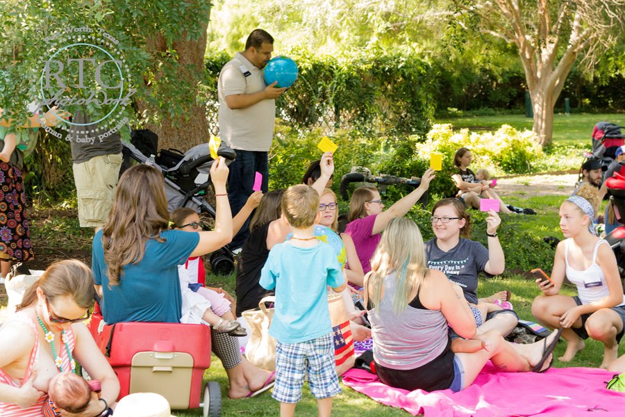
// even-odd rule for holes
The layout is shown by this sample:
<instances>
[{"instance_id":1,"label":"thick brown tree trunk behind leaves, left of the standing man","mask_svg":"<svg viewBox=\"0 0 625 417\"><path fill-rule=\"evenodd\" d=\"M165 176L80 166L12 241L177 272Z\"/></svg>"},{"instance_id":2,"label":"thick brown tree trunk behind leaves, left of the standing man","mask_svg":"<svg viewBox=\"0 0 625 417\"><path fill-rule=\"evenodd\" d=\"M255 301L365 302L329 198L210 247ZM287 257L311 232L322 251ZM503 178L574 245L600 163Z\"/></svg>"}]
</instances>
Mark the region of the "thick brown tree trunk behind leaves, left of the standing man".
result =
<instances>
[{"instance_id":1,"label":"thick brown tree trunk behind leaves, left of the standing man","mask_svg":"<svg viewBox=\"0 0 625 417\"><path fill-rule=\"evenodd\" d=\"M203 35L197 41L186 40L186 34L181 35L179 40L173 44L173 49L178 55L178 79L191 81L192 85L197 85L199 77L197 74L203 73L204 54L206 52L206 28L208 27L208 16L197 17L202 22ZM160 54L167 50L163 36L157 35L152 38L148 45L149 51ZM188 65L192 67L187 68ZM197 87L189 92L191 97L199 95ZM156 113L160 124L149 123L150 129L158 135L158 146L160 149L174 148L182 152L187 151L202 142L208 142L209 131L206 120L206 106L204 104L193 104L183 115L172 117L169 114L167 105L163 108L150 106L146 101L138 101L140 113L147 111L148 114Z\"/></svg>"}]
</instances>

